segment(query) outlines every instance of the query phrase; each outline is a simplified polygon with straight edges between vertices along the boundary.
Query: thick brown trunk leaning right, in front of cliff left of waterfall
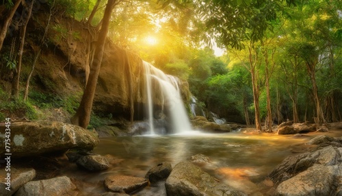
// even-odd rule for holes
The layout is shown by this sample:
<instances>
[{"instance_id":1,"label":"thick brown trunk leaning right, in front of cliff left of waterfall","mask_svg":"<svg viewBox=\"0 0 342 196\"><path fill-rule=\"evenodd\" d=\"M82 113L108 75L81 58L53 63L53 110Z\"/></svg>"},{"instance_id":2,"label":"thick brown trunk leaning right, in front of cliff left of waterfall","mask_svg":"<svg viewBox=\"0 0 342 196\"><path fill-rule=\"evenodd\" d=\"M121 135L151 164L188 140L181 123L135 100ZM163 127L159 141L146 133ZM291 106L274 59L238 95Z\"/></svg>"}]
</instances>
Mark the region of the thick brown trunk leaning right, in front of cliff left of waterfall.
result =
<instances>
[{"instance_id":1,"label":"thick brown trunk leaning right, in front of cliff left of waterfall","mask_svg":"<svg viewBox=\"0 0 342 196\"><path fill-rule=\"evenodd\" d=\"M114 8L116 0L108 0L105 8L105 14L103 16L103 24L101 31L98 34L98 40L96 43L96 50L92 66L90 66L90 74L86 88L77 109L76 114L71 118L71 122L74 125L79 125L83 128L87 128L90 121L90 114L92 112L92 101L94 100L96 83L98 79L98 73L100 72L101 62L103 58L103 50L105 48L105 40L107 38L109 21L111 17L111 10Z\"/></svg>"}]
</instances>

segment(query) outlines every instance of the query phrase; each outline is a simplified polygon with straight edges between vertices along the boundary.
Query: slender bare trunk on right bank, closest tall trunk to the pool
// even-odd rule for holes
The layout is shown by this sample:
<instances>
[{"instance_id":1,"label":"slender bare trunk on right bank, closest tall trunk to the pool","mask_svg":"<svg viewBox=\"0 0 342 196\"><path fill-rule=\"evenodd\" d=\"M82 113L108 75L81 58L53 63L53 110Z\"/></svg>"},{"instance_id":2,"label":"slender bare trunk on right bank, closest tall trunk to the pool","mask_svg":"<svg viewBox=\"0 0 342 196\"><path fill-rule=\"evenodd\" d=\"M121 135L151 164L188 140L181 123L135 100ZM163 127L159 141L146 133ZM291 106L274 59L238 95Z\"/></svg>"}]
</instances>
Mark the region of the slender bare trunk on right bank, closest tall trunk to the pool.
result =
<instances>
[{"instance_id":1,"label":"slender bare trunk on right bank, closest tall trunk to the pool","mask_svg":"<svg viewBox=\"0 0 342 196\"><path fill-rule=\"evenodd\" d=\"M254 112L255 112L255 126L257 130L262 131L261 118L260 118L260 108L259 108L259 85L257 77L257 60L252 58L252 42L248 47L249 60L250 60L250 73L252 75L252 88L253 88L253 99L254 99ZM257 58L257 53L256 53Z\"/></svg>"}]
</instances>

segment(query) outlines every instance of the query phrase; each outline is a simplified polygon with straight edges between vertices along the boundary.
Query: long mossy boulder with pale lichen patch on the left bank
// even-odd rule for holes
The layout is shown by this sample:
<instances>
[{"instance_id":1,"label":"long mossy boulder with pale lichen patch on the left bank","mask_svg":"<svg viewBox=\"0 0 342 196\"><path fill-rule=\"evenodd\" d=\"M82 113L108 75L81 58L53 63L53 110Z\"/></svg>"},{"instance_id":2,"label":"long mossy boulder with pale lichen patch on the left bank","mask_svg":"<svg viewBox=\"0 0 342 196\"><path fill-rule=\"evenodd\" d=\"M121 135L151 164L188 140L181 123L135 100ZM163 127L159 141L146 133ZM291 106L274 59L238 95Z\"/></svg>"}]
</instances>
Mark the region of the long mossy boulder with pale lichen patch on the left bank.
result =
<instances>
[{"instance_id":1,"label":"long mossy boulder with pale lichen patch on the left bank","mask_svg":"<svg viewBox=\"0 0 342 196\"><path fill-rule=\"evenodd\" d=\"M5 123L0 123L0 154L5 153ZM20 121L10 125L12 157L38 156L68 149L93 149L98 137L76 125L53 121Z\"/></svg>"}]
</instances>

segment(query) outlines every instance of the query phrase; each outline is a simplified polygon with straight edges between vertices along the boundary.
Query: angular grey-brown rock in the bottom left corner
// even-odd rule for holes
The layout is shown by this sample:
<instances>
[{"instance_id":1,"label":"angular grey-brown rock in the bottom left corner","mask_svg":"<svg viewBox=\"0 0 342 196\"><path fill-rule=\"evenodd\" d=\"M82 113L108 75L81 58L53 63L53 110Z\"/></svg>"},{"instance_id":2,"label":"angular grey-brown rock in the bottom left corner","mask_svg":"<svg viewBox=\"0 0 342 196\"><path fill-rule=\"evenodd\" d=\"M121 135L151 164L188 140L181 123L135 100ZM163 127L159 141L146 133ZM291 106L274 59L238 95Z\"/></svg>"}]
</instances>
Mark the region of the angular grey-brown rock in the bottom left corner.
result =
<instances>
[{"instance_id":1,"label":"angular grey-brown rock in the bottom left corner","mask_svg":"<svg viewBox=\"0 0 342 196\"><path fill-rule=\"evenodd\" d=\"M34 169L14 169L14 167L10 169L11 175L7 175L5 169L0 171L0 196L13 195L23 184L36 177L36 170Z\"/></svg>"}]
</instances>

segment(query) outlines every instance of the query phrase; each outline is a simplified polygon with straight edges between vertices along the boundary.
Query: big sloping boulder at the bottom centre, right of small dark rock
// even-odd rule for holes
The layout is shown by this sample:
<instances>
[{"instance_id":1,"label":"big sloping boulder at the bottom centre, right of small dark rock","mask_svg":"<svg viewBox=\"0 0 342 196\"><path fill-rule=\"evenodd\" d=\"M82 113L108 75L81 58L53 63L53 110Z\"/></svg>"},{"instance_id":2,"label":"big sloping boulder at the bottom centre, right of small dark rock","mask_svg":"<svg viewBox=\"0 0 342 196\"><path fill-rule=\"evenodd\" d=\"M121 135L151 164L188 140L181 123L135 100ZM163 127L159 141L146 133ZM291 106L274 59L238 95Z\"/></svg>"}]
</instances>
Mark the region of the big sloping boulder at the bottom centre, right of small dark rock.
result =
<instances>
[{"instance_id":1,"label":"big sloping boulder at the bottom centre, right of small dark rock","mask_svg":"<svg viewBox=\"0 0 342 196\"><path fill-rule=\"evenodd\" d=\"M246 195L225 184L220 184L189 161L176 164L166 180L165 187L167 195Z\"/></svg>"}]
</instances>

